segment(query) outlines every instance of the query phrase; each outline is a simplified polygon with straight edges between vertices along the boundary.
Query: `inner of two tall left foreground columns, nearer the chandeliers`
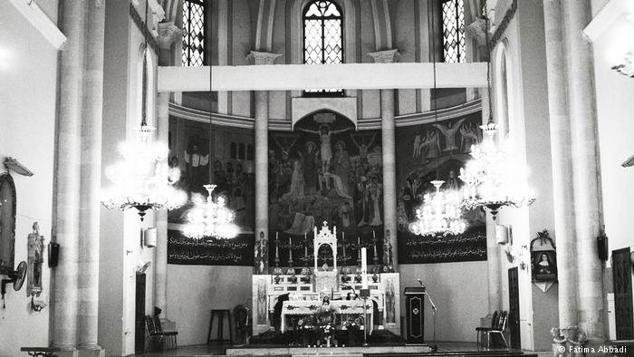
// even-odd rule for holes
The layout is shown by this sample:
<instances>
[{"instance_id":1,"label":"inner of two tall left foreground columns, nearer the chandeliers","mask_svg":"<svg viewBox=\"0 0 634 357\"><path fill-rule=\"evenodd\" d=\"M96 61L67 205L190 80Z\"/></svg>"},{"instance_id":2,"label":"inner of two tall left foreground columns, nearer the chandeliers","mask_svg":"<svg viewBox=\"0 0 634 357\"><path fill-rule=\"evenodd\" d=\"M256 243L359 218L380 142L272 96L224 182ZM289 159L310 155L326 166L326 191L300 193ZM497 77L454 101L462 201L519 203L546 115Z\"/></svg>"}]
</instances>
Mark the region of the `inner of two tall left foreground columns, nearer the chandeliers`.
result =
<instances>
[{"instance_id":1,"label":"inner of two tall left foreground columns, nearer the chandeliers","mask_svg":"<svg viewBox=\"0 0 634 357\"><path fill-rule=\"evenodd\" d=\"M82 166L79 221L80 356L103 356L97 344L99 244L101 221L101 119L103 111L103 39L105 5L86 2L86 52L82 116ZM65 97L62 97L62 101ZM63 144L62 144L63 145Z\"/></svg>"}]
</instances>

